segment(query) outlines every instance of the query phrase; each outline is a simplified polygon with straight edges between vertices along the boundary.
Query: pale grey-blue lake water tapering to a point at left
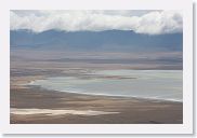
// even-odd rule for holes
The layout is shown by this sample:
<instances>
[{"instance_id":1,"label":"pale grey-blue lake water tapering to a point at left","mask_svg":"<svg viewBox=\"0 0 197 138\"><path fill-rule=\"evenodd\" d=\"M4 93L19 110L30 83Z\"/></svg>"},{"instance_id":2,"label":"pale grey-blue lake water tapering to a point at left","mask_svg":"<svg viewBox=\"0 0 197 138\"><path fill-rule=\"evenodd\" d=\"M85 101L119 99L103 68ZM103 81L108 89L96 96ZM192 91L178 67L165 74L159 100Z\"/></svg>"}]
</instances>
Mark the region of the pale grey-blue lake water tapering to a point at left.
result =
<instances>
[{"instance_id":1,"label":"pale grey-blue lake water tapering to a point at left","mask_svg":"<svg viewBox=\"0 0 197 138\"><path fill-rule=\"evenodd\" d=\"M89 73L89 75L91 77L48 78L37 80L30 85L91 95L183 100L182 70L104 70Z\"/></svg>"}]
</instances>

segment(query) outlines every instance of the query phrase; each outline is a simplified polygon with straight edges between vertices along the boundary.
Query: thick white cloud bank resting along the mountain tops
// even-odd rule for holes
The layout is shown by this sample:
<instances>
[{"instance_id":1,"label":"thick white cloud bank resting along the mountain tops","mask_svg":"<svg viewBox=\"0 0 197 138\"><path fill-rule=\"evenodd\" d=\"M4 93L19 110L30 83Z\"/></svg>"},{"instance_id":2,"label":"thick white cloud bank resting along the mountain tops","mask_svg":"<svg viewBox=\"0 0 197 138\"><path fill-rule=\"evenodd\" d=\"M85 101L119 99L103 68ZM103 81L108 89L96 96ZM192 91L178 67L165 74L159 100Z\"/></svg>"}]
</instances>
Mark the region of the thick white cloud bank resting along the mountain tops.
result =
<instances>
[{"instance_id":1,"label":"thick white cloud bank resting along the mountain tops","mask_svg":"<svg viewBox=\"0 0 197 138\"><path fill-rule=\"evenodd\" d=\"M11 30L50 29L65 31L133 30L139 33L160 34L182 32L179 11L11 11Z\"/></svg>"}]
</instances>

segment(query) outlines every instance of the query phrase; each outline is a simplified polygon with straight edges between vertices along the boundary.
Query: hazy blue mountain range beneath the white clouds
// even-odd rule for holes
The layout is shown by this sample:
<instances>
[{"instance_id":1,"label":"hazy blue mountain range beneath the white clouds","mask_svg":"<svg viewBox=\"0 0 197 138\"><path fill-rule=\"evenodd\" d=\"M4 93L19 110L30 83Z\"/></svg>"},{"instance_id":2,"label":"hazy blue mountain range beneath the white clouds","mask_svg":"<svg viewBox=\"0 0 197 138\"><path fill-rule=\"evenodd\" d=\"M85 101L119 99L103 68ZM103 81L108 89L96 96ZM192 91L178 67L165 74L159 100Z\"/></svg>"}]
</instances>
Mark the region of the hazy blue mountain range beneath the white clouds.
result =
<instances>
[{"instance_id":1,"label":"hazy blue mountain range beneath the white clouds","mask_svg":"<svg viewBox=\"0 0 197 138\"><path fill-rule=\"evenodd\" d=\"M58 31L11 30L11 49L67 51L182 51L183 34L142 34L132 30Z\"/></svg>"}]
</instances>

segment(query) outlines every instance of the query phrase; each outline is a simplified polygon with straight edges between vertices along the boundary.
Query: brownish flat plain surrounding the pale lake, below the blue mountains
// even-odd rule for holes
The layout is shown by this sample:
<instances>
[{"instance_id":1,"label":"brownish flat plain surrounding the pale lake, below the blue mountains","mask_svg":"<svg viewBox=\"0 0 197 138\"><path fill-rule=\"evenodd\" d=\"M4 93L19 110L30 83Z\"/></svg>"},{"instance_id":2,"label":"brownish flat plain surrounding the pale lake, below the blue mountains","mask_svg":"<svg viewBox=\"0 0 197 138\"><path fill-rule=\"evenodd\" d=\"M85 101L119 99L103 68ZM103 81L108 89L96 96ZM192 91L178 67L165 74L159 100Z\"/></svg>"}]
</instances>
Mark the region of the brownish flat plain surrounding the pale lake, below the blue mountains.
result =
<instances>
[{"instance_id":1,"label":"brownish flat plain surrounding the pale lake, below the blue mountains","mask_svg":"<svg viewBox=\"0 0 197 138\"><path fill-rule=\"evenodd\" d=\"M166 53L160 54L169 56ZM183 102L179 101L75 94L26 85L49 77L78 77L91 70L179 69L180 67L171 63L162 67L162 63L159 66L155 60L146 64L143 60L133 63L135 55L132 56L127 53L12 50L11 124L183 123ZM100 57L110 57L110 60L101 60ZM115 57L121 59L116 60Z\"/></svg>"}]
</instances>

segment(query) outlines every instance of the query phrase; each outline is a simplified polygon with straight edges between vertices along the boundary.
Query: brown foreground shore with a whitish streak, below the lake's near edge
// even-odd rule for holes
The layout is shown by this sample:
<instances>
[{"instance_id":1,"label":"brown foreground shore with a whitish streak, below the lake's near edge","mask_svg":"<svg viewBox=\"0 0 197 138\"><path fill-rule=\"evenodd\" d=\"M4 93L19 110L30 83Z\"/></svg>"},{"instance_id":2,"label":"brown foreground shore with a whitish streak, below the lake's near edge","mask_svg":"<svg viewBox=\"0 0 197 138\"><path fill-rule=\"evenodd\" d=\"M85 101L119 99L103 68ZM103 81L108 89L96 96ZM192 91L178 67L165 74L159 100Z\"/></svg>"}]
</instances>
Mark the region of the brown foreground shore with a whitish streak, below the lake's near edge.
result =
<instances>
[{"instance_id":1,"label":"brown foreground shore with a whitish streak, below the lake's near edge","mask_svg":"<svg viewBox=\"0 0 197 138\"><path fill-rule=\"evenodd\" d=\"M183 104L11 88L11 124L180 124Z\"/></svg>"}]
</instances>

